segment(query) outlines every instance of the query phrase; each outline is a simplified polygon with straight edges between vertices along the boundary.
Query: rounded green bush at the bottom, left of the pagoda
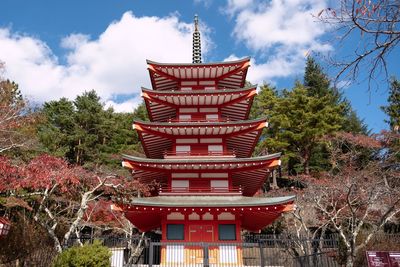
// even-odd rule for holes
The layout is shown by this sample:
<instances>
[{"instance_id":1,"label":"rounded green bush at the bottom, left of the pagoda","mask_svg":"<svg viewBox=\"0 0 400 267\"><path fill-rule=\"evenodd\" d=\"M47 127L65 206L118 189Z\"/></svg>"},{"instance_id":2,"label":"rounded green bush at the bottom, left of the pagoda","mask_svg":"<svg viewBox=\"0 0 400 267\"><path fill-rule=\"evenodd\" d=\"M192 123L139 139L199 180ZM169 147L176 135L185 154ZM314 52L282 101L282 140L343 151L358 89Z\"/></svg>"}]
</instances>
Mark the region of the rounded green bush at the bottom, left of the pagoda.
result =
<instances>
[{"instance_id":1,"label":"rounded green bush at the bottom, left of the pagoda","mask_svg":"<svg viewBox=\"0 0 400 267\"><path fill-rule=\"evenodd\" d=\"M111 252L100 241L74 246L55 259L53 267L109 267Z\"/></svg>"}]
</instances>

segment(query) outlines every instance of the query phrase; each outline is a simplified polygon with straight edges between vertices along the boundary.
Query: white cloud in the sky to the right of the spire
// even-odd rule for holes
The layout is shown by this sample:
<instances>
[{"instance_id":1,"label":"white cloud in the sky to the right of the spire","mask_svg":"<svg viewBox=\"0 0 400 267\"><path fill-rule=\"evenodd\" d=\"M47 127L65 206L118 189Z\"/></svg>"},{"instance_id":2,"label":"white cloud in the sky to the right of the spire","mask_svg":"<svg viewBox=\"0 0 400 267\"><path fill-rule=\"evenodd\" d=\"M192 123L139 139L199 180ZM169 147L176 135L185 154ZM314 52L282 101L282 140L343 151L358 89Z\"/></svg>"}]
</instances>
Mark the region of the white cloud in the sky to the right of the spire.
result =
<instances>
[{"instance_id":1,"label":"white cloud in the sky to the right of the spire","mask_svg":"<svg viewBox=\"0 0 400 267\"><path fill-rule=\"evenodd\" d=\"M235 21L233 36L260 59L253 60L249 80L263 83L301 73L311 52L332 50L320 38L326 26L313 16L328 0L228 0L225 13Z\"/></svg>"}]
</instances>

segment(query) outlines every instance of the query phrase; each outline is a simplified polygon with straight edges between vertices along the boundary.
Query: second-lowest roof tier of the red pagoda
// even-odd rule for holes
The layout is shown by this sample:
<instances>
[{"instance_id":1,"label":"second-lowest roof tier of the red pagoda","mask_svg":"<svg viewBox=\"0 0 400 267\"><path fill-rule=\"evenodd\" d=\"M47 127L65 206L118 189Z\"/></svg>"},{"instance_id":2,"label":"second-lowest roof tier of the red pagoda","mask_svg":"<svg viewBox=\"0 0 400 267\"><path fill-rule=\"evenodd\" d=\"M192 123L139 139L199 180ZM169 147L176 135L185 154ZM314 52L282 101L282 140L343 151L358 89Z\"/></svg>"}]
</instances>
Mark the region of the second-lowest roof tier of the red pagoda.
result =
<instances>
[{"instance_id":1,"label":"second-lowest roof tier of the red pagoda","mask_svg":"<svg viewBox=\"0 0 400 267\"><path fill-rule=\"evenodd\" d=\"M166 184L174 173L232 173L232 185L252 196L262 186L271 169L280 165L280 153L252 158L148 159L123 155L122 165L132 169L140 182Z\"/></svg>"}]
</instances>

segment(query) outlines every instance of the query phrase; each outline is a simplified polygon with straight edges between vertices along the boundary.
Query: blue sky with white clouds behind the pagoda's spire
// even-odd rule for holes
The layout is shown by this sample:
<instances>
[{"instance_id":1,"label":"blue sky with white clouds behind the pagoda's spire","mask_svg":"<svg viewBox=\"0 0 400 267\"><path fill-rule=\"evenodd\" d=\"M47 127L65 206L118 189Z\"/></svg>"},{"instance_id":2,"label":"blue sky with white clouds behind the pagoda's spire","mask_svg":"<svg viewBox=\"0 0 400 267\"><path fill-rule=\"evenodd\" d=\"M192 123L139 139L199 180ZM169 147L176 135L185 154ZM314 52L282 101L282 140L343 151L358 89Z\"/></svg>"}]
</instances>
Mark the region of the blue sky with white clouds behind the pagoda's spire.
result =
<instances>
[{"instance_id":1,"label":"blue sky with white clouds behind the pagoda's spire","mask_svg":"<svg viewBox=\"0 0 400 267\"><path fill-rule=\"evenodd\" d=\"M203 61L250 56L248 80L291 88L295 79L302 79L308 53L345 54L353 47L335 47L329 29L312 16L329 4L329 0L2 0L3 76L18 82L22 92L38 103L74 99L95 89L107 105L131 111L141 101L140 87L150 87L145 59L191 61L197 13ZM389 63L389 72L400 77L399 63ZM326 70L333 75L333 70ZM386 104L387 85L367 89L366 82L343 88L370 128L387 128L379 109Z\"/></svg>"}]
</instances>

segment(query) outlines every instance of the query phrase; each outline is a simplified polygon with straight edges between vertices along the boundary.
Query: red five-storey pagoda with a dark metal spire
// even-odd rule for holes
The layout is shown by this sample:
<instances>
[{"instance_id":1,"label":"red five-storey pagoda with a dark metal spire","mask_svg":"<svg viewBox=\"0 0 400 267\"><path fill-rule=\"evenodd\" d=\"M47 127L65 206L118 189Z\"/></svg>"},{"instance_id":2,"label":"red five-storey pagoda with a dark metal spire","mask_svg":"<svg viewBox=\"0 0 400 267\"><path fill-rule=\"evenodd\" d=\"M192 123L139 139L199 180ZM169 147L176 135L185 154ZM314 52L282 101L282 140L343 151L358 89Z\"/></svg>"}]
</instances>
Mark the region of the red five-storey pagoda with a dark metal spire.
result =
<instances>
[{"instance_id":1,"label":"red five-storey pagoda with a dark metal spire","mask_svg":"<svg viewBox=\"0 0 400 267\"><path fill-rule=\"evenodd\" d=\"M268 123L248 119L250 59L202 63L196 16L191 64L147 64L150 121L133 124L147 158L123 155L122 164L159 188L125 206L126 218L143 232L161 228L163 242L240 242L242 230L258 232L292 210L292 196L259 194L280 153L251 156Z\"/></svg>"}]
</instances>

